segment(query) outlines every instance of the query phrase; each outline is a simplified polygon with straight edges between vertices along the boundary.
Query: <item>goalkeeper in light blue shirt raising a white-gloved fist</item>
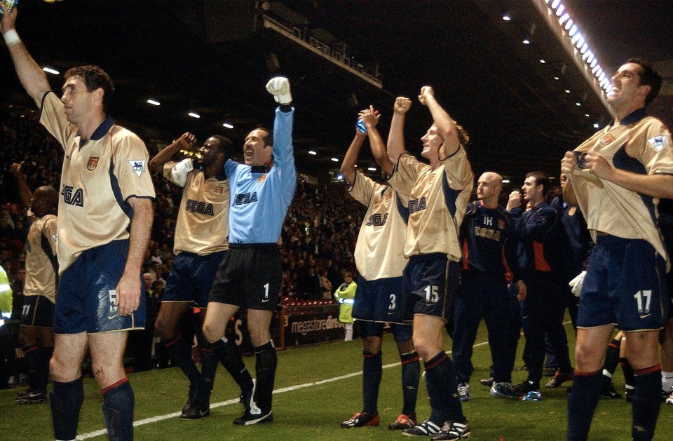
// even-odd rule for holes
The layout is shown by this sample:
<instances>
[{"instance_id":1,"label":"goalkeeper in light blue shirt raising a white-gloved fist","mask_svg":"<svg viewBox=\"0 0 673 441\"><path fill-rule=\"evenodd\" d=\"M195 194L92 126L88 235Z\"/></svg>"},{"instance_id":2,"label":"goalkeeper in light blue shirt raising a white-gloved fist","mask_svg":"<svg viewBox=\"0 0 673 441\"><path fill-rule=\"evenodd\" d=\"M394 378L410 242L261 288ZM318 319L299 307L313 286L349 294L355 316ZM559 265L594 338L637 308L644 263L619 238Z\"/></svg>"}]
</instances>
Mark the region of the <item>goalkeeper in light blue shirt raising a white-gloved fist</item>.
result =
<instances>
[{"instance_id":1,"label":"goalkeeper in light blue shirt raising a white-gloved fist","mask_svg":"<svg viewBox=\"0 0 673 441\"><path fill-rule=\"evenodd\" d=\"M223 337L229 318L241 308L247 310L257 383L256 388L243 390L245 414L233 421L245 426L273 421L271 394L277 359L271 317L280 299L282 277L278 239L297 186L290 81L276 77L268 81L266 90L280 104L273 135L266 128L255 128L245 137L245 163L231 159L224 163L231 189L229 251L217 270L203 323L203 335L220 360L245 367L238 346ZM245 379L228 370L243 388Z\"/></svg>"}]
</instances>

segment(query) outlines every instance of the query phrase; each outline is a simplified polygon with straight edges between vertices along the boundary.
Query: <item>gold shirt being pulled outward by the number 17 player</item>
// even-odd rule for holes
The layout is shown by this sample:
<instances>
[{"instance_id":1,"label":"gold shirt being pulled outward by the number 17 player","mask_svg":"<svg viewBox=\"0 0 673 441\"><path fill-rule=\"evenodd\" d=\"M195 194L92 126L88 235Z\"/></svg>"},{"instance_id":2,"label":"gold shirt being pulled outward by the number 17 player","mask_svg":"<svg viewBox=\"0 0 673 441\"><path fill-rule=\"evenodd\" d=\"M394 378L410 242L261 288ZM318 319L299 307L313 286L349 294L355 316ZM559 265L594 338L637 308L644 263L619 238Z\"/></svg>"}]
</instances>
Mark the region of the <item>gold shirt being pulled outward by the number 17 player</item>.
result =
<instances>
[{"instance_id":1,"label":"gold shirt being pulled outward by the number 17 player","mask_svg":"<svg viewBox=\"0 0 673 441\"><path fill-rule=\"evenodd\" d=\"M575 151L594 150L615 168L641 175L673 174L671 134L664 123L639 109L580 144ZM587 169L570 176L580 209L594 242L597 233L644 239L666 256L656 227L655 198L599 179Z\"/></svg>"}]
</instances>

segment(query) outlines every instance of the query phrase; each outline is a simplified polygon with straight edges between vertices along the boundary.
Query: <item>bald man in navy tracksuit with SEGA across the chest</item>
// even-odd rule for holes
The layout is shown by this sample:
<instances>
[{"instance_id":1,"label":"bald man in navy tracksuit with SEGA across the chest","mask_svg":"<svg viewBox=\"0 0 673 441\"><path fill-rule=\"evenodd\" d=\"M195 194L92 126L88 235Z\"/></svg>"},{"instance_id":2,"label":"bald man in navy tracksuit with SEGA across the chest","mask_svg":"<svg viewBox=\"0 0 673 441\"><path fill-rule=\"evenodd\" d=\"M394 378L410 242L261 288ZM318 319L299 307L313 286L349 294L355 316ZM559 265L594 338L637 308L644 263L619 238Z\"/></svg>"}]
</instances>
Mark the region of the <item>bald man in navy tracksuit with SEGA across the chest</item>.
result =
<instances>
[{"instance_id":1,"label":"bald man in navy tracksuit with SEGA across the chest","mask_svg":"<svg viewBox=\"0 0 673 441\"><path fill-rule=\"evenodd\" d=\"M454 363L461 401L470 400L469 382L473 372L470 359L482 317L489 332L494 383L510 383L512 379L516 337L507 337L512 334L515 316L509 307L505 279L508 265L503 255L513 266L516 254L514 224L509 213L498 206L502 189L501 175L496 172L481 175L477 180L477 201L468 204L461 224L463 261L453 327ZM519 294L525 292L523 282L518 285Z\"/></svg>"}]
</instances>

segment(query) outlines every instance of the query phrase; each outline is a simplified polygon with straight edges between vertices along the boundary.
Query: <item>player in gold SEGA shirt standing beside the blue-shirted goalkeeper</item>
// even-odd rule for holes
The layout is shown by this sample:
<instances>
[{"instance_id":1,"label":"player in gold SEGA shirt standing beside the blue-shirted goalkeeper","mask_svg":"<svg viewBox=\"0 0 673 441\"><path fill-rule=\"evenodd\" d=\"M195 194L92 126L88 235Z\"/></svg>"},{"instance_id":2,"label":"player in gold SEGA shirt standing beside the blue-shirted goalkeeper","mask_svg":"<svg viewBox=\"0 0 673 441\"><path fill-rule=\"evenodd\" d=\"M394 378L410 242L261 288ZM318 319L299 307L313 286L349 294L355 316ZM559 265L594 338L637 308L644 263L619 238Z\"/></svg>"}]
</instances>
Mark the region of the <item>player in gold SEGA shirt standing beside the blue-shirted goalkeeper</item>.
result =
<instances>
[{"instance_id":1,"label":"player in gold SEGA shirt standing beside the blue-shirted goalkeeper","mask_svg":"<svg viewBox=\"0 0 673 441\"><path fill-rule=\"evenodd\" d=\"M208 294L219 263L228 248L229 182L222 171L233 150L231 141L215 135L198 149L198 158L176 162L170 159L181 149L190 150L196 137L184 133L149 161L149 169L184 188L175 226L173 261L161 308L154 327L173 362L189 379L189 398L182 408L182 419L210 414L210 391L217 369L217 358L203 336L198 335L203 355L201 372L191 358L191 341L182 337L177 323L190 307L200 309L203 323ZM196 167L194 167L196 165ZM247 374L247 370L244 369ZM247 384L252 379L247 374ZM246 384L246 385L247 385Z\"/></svg>"}]
</instances>

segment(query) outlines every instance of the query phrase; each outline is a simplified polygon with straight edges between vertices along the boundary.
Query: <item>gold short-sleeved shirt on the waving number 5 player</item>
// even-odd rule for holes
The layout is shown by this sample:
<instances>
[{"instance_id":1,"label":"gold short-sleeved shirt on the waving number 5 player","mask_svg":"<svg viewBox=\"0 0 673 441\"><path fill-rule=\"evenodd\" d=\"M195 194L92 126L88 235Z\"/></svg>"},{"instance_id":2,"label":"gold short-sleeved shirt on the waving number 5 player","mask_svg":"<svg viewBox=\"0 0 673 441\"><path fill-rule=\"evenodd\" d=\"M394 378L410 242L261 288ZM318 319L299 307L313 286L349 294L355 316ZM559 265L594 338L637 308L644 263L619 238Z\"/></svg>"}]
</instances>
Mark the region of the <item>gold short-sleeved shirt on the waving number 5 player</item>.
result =
<instances>
[{"instance_id":1,"label":"gold short-sleeved shirt on the waving number 5 player","mask_svg":"<svg viewBox=\"0 0 673 441\"><path fill-rule=\"evenodd\" d=\"M58 201L58 263L63 273L85 250L130 236L128 198L154 198L144 142L108 116L90 140L67 121L54 93L42 98L40 123L64 149Z\"/></svg>"}]
</instances>

